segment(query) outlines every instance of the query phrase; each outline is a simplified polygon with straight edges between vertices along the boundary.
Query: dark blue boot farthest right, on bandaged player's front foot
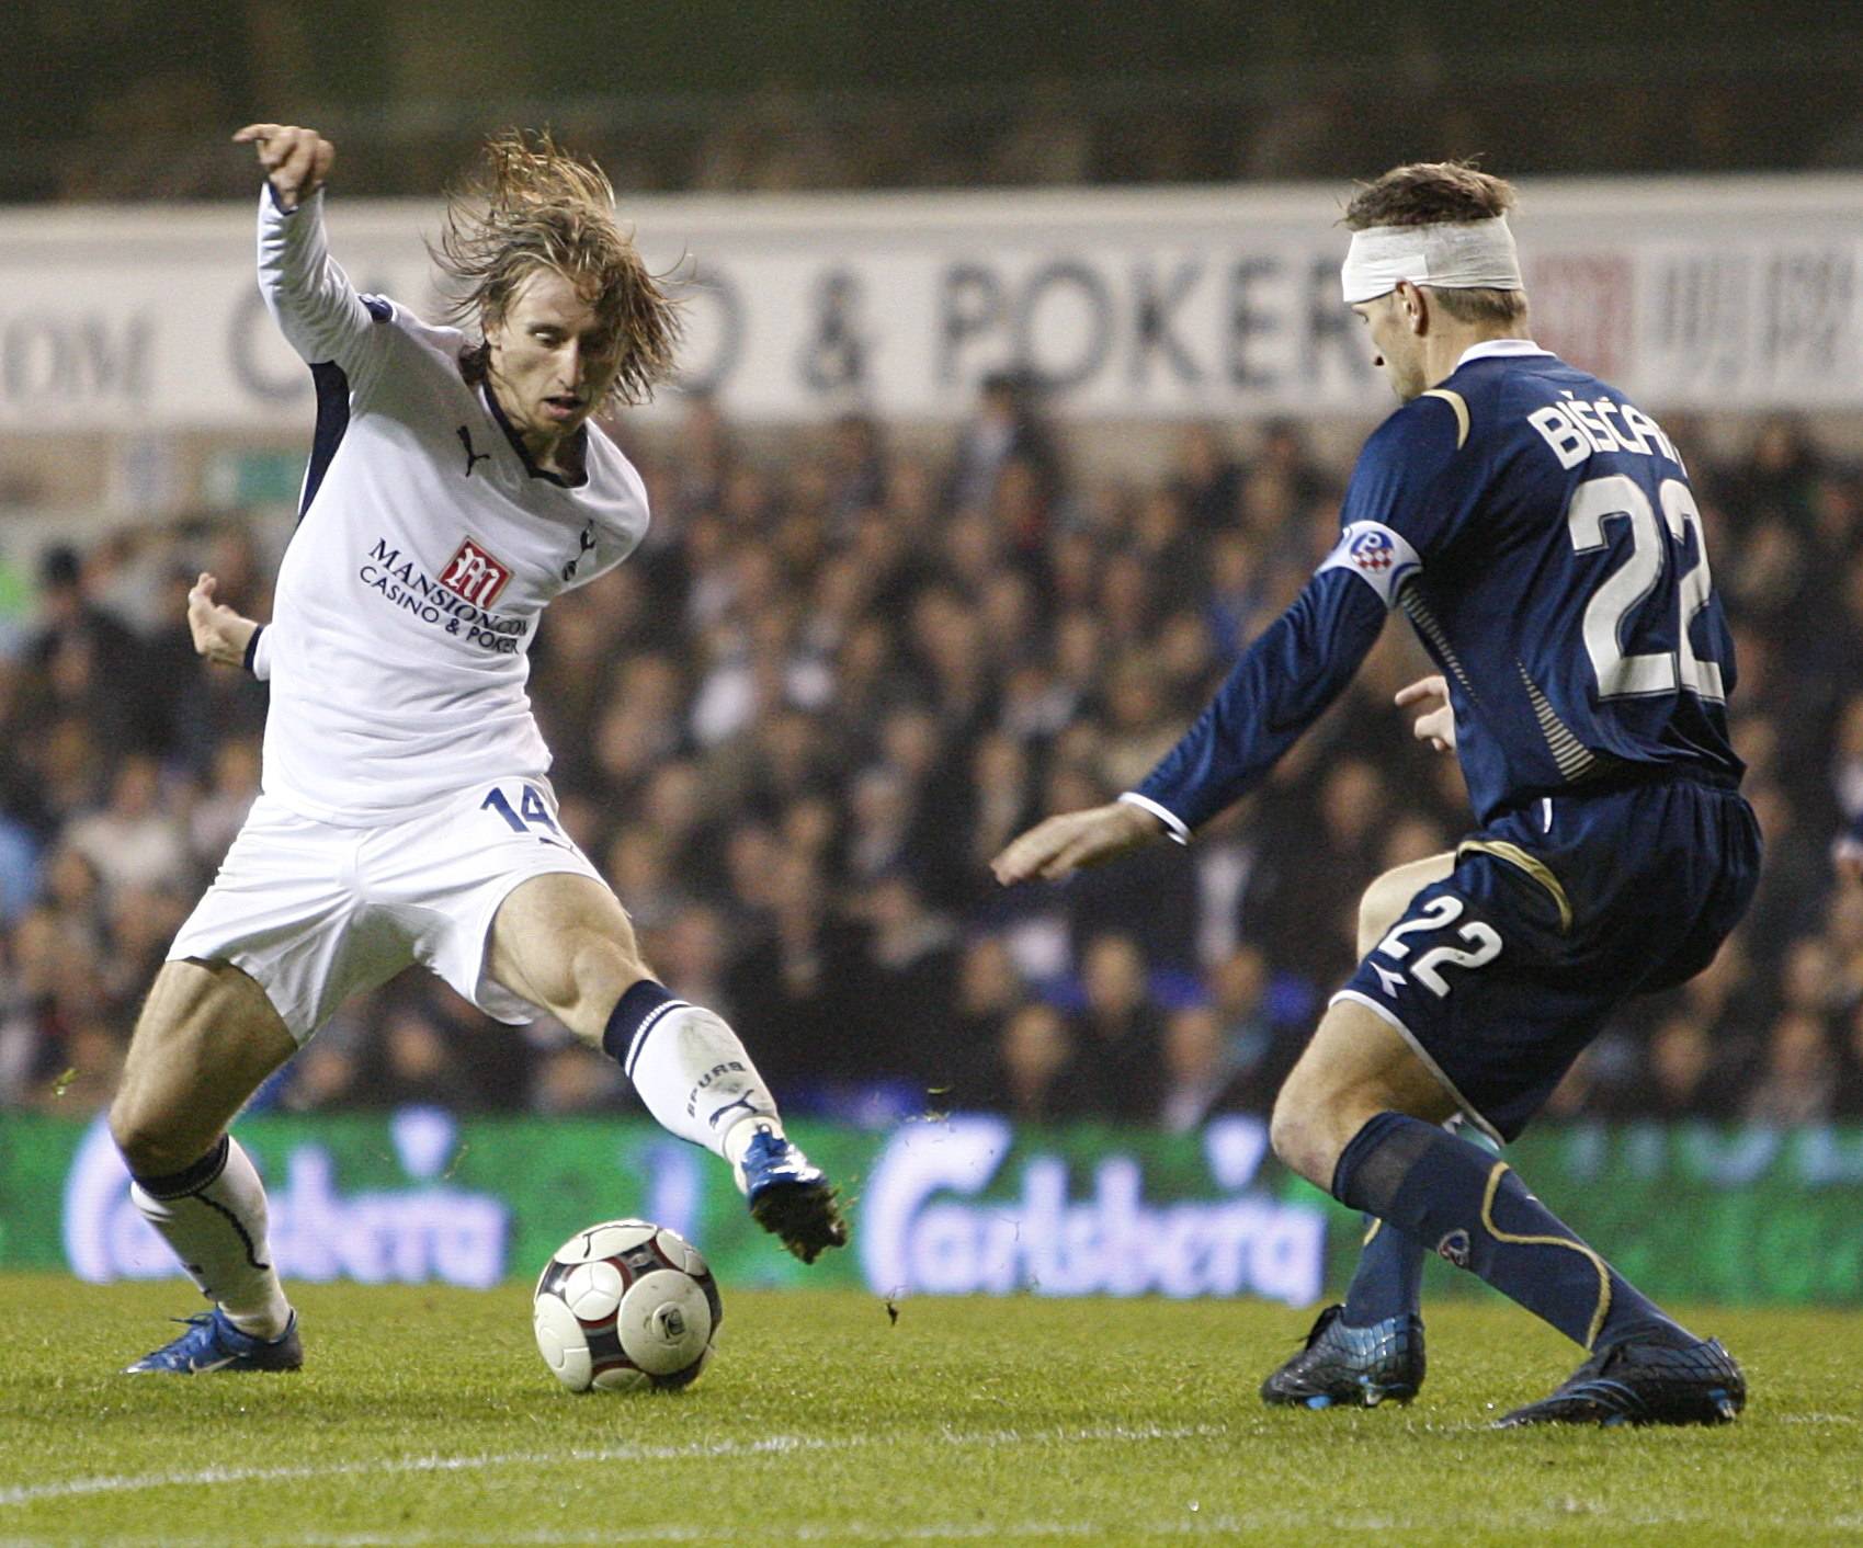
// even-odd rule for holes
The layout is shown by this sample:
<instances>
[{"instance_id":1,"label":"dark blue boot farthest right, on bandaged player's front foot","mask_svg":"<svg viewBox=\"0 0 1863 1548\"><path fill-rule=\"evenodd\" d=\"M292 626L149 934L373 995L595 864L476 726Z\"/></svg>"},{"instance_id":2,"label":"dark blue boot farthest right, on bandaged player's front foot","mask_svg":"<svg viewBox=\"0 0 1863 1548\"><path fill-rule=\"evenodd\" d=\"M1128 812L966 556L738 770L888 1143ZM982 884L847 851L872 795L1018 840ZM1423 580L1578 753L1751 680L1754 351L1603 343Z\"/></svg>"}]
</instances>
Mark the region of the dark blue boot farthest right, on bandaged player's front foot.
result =
<instances>
[{"instance_id":1,"label":"dark blue boot farthest right, on bandaged player's front foot","mask_svg":"<svg viewBox=\"0 0 1863 1548\"><path fill-rule=\"evenodd\" d=\"M1494 1429L1524 1425L1725 1425L1746 1406L1746 1377L1720 1339L1649 1334L1593 1351L1552 1397Z\"/></svg>"}]
</instances>

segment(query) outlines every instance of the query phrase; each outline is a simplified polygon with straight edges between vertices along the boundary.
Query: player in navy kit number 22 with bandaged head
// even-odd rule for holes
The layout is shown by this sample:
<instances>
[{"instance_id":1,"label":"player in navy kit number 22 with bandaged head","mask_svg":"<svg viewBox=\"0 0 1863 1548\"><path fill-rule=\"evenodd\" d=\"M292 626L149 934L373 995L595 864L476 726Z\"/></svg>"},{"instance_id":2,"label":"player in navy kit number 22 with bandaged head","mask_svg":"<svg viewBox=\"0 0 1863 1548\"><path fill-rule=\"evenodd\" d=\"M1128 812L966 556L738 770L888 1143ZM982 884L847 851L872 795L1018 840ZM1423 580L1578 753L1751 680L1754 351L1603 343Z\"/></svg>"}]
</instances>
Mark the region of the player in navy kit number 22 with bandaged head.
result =
<instances>
[{"instance_id":1,"label":"player in navy kit number 22 with bandaged head","mask_svg":"<svg viewBox=\"0 0 1863 1548\"><path fill-rule=\"evenodd\" d=\"M1414 1397L1421 1261L1438 1252L1587 1351L1503 1425L1716 1423L1746 1401L1733 1358L1444 1127L1459 1114L1515 1138L1613 1006L1714 957L1761 855L1688 471L1623 393L1526 335L1511 205L1505 183L1457 164L1397 168L1353 199L1345 302L1403 406L1360 455L1338 548L1136 790L1047 820L995 872L1060 877L1187 840L1401 609L1442 674L1399 702L1455 749L1477 827L1367 889L1375 944L1276 1101L1276 1153L1375 1224L1345 1304L1263 1397Z\"/></svg>"}]
</instances>

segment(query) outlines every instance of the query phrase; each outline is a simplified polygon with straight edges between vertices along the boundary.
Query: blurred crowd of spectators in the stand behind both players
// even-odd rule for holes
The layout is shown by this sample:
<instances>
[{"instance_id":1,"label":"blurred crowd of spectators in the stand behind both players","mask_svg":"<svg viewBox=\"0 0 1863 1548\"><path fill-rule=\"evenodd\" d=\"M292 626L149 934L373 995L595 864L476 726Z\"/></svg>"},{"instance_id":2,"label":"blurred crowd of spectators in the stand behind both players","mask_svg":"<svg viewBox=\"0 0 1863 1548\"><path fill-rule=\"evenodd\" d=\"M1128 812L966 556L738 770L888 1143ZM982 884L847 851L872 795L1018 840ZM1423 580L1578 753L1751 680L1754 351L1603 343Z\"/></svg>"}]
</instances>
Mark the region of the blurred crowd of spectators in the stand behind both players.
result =
<instances>
[{"instance_id":1,"label":"blurred crowd of spectators in the stand behind both players","mask_svg":"<svg viewBox=\"0 0 1863 1548\"><path fill-rule=\"evenodd\" d=\"M676 436L620 434L654 529L551 605L531 697L564 823L660 976L732 1019L792 1112L1265 1110L1351 969L1364 883L1468 825L1453 758L1390 702L1425 667L1408 630L1189 849L1013 892L986 862L1151 767L1330 546L1347 469L1289 425L1196 425L1161 432L1166 477L1077 477L1012 378L943 458L859 415L760 455L706 401ZM1774 421L1693 481L1766 870L1712 969L1634 1002L1552 1110L1863 1118L1863 887L1829 862L1863 816L1863 471ZM114 1090L259 781L265 689L194 658L184 594L211 568L266 617L289 535L259 514L54 548L0 630L0 1107ZM563 1028L412 972L261 1101L633 1097Z\"/></svg>"}]
</instances>

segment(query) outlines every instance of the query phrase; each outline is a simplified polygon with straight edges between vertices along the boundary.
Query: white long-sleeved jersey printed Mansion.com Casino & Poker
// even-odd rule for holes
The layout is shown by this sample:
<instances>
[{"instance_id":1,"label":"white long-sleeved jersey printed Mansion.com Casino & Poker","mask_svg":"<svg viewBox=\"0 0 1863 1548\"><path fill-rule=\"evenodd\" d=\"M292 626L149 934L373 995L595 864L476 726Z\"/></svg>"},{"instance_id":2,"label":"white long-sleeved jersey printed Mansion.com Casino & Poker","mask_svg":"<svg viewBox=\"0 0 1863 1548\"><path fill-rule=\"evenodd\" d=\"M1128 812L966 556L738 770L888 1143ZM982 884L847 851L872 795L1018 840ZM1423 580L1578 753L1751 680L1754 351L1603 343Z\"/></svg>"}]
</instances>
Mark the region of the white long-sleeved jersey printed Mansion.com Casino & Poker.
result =
<instances>
[{"instance_id":1,"label":"white long-sleeved jersey printed Mansion.com Casino & Poker","mask_svg":"<svg viewBox=\"0 0 1863 1548\"><path fill-rule=\"evenodd\" d=\"M324 242L322 194L266 194L259 285L317 378L298 531L253 669L272 684L265 792L317 822L395 822L477 781L542 777L525 693L544 604L613 568L646 490L591 425L585 477L531 466L471 341L358 296Z\"/></svg>"}]
</instances>

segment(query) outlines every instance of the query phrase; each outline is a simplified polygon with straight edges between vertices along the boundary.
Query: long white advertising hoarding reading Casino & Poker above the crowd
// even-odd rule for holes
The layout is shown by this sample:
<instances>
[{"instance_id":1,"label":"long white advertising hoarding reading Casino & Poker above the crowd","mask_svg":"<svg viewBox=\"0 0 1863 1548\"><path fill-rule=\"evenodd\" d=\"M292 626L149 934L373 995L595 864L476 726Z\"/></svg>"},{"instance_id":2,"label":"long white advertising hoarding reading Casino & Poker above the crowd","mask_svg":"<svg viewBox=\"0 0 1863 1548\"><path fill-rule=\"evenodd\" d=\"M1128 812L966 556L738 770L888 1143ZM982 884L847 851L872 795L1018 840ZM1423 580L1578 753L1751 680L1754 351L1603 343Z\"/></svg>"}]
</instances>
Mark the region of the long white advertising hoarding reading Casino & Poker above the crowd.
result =
<instances>
[{"instance_id":1,"label":"long white advertising hoarding reading Casino & Poker above the crowd","mask_svg":"<svg viewBox=\"0 0 1863 1548\"><path fill-rule=\"evenodd\" d=\"M1375 414L1339 188L624 199L689 307L687 384L751 421L950 419L991 371L1075 417ZM358 287L434 315L432 203L345 201ZM1863 408L1863 179L1528 183L1535 333L1652 408ZM0 430L281 428L252 209L0 214ZM676 402L678 393L667 393Z\"/></svg>"}]
</instances>

